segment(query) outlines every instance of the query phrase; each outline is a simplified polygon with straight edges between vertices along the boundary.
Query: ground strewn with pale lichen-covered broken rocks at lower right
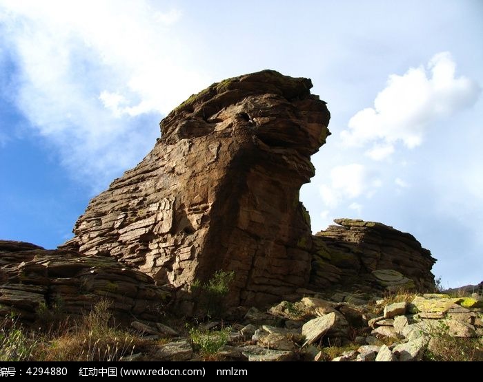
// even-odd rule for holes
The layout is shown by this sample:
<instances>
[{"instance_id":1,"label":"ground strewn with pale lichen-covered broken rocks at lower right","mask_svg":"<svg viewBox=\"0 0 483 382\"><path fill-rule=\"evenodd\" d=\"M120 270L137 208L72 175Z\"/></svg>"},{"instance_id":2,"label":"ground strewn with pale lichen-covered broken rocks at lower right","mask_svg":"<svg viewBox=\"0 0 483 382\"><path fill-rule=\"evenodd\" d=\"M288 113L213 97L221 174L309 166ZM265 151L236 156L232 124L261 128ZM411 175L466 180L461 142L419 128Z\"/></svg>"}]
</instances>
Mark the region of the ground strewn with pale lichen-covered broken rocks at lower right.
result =
<instances>
[{"instance_id":1,"label":"ground strewn with pale lichen-covered broken rocks at lower right","mask_svg":"<svg viewBox=\"0 0 483 382\"><path fill-rule=\"evenodd\" d=\"M330 299L304 297L295 303L282 301L268 310L249 308L236 323L204 323L199 329L206 337L204 343L175 330L167 335L159 324L133 325L148 335L172 337L155 357L166 361L200 357L239 361L481 360L483 301L475 297L400 294L371 301L344 293L335 293ZM220 336L224 340L219 349L207 352L210 337L216 342ZM152 359L152 355L132 354L129 358Z\"/></svg>"}]
</instances>

